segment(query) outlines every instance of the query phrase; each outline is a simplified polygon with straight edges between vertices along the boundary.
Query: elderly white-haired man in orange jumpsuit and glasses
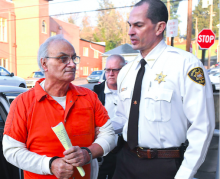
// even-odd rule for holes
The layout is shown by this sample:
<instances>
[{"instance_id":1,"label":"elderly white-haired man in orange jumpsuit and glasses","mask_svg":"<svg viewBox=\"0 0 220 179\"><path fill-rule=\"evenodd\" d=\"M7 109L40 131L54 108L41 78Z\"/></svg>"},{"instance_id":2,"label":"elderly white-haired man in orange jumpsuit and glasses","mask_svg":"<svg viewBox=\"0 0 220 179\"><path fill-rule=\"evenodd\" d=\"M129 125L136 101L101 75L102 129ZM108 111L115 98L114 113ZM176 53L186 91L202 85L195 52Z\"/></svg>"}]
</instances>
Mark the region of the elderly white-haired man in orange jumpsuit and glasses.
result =
<instances>
[{"instance_id":1,"label":"elderly white-haired man in orange jumpsuit and glasses","mask_svg":"<svg viewBox=\"0 0 220 179\"><path fill-rule=\"evenodd\" d=\"M48 38L39 48L38 65L45 79L19 95L5 124L3 153L24 170L25 179L90 179L92 158L114 147L115 134L97 95L75 86L79 57L62 36ZM51 127L63 122L73 147L66 150ZM100 134L95 139L95 127ZM81 148L83 147L83 148Z\"/></svg>"}]
</instances>

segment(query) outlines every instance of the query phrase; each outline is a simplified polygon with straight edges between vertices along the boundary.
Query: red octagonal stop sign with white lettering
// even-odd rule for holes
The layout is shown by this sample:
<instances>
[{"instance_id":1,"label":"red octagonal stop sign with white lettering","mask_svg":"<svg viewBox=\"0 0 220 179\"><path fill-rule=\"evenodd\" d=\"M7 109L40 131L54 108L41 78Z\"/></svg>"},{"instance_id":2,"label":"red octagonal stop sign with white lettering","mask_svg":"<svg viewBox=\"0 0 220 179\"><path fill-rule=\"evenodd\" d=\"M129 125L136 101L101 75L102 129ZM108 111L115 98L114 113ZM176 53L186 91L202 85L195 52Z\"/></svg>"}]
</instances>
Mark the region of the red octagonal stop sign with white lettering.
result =
<instances>
[{"instance_id":1,"label":"red octagonal stop sign with white lettering","mask_svg":"<svg viewBox=\"0 0 220 179\"><path fill-rule=\"evenodd\" d=\"M210 29L203 29L198 34L197 43L200 48L208 49L215 43L215 34Z\"/></svg>"}]
</instances>

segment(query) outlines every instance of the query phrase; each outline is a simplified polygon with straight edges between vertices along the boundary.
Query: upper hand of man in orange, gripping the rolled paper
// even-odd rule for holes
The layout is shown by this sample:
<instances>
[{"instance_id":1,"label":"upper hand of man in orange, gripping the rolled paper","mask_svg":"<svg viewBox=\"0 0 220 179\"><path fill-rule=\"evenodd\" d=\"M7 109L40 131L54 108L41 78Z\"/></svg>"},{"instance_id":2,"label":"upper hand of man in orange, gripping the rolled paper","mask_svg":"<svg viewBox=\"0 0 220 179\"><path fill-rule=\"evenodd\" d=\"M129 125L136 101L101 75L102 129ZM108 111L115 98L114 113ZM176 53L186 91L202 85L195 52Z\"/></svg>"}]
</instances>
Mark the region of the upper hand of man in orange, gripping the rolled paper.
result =
<instances>
[{"instance_id":1,"label":"upper hand of man in orange, gripping the rolled paper","mask_svg":"<svg viewBox=\"0 0 220 179\"><path fill-rule=\"evenodd\" d=\"M63 154L65 155L64 160L66 163L74 167L81 167L90 160L89 153L79 146L72 146L63 152Z\"/></svg>"}]
</instances>

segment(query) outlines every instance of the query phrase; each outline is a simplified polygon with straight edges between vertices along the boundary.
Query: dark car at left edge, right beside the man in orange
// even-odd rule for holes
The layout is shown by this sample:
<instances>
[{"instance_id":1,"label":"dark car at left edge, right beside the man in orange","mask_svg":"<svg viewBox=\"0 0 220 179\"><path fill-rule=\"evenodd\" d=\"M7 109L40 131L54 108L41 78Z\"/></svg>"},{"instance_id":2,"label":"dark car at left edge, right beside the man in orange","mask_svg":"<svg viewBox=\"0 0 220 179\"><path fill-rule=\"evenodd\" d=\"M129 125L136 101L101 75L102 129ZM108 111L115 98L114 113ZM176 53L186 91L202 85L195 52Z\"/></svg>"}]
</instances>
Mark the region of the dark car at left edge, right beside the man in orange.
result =
<instances>
[{"instance_id":1,"label":"dark car at left edge, right beside the man in orange","mask_svg":"<svg viewBox=\"0 0 220 179\"><path fill-rule=\"evenodd\" d=\"M1 177L4 179L23 179L23 172L14 165L8 163L3 156L2 138L5 121L9 112L10 104L21 93L27 91L27 88L0 85L0 169Z\"/></svg>"}]
</instances>

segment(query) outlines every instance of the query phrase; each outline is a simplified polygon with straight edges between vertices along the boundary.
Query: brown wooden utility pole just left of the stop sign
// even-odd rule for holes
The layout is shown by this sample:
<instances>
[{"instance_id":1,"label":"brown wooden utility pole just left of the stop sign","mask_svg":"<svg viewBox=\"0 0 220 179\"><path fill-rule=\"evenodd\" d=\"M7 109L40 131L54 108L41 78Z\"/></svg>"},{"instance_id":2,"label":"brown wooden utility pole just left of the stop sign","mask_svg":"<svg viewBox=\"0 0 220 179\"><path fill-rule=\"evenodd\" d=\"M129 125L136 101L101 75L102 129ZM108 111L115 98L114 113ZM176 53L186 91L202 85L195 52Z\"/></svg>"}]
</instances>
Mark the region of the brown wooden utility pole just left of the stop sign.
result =
<instances>
[{"instance_id":1,"label":"brown wooden utility pole just left of the stop sign","mask_svg":"<svg viewBox=\"0 0 220 179\"><path fill-rule=\"evenodd\" d=\"M192 35L192 0L188 0L188 18L187 18L187 39L186 39L186 51L190 52Z\"/></svg>"}]
</instances>

